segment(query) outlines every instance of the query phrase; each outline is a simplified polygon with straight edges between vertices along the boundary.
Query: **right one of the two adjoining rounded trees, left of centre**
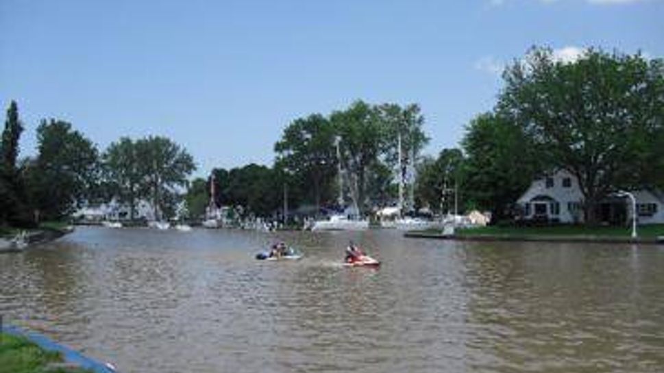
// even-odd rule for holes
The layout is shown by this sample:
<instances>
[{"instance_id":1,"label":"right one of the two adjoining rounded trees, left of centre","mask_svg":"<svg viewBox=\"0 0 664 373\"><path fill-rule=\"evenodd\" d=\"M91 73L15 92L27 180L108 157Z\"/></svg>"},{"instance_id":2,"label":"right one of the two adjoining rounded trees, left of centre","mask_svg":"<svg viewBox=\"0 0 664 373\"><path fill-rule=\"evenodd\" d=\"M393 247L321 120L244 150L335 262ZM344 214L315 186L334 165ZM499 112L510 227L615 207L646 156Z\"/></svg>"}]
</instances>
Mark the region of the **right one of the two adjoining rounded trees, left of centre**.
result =
<instances>
[{"instance_id":1,"label":"right one of the two adjoining rounded trees, left of centre","mask_svg":"<svg viewBox=\"0 0 664 373\"><path fill-rule=\"evenodd\" d=\"M187 178L196 169L193 158L169 138L149 136L136 141L138 172L142 175L143 190L149 195L155 218L174 209L177 188L187 185Z\"/></svg>"}]
</instances>

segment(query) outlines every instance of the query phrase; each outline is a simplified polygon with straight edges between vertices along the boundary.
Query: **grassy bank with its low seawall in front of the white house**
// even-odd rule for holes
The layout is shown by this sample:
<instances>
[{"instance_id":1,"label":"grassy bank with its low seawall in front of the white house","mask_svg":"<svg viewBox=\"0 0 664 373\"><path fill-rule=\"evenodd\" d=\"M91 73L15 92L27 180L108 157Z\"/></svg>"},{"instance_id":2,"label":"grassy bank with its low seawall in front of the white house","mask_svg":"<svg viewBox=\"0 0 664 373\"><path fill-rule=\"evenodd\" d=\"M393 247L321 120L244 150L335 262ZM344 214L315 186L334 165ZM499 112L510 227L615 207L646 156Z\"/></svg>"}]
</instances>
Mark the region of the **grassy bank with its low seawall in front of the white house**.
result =
<instances>
[{"instance_id":1,"label":"grassy bank with its low seawall in front of the white house","mask_svg":"<svg viewBox=\"0 0 664 373\"><path fill-rule=\"evenodd\" d=\"M524 242L598 242L626 244L664 244L664 224L645 225L637 229L638 236L631 237L624 227L585 227L558 225L551 227L478 227L456 229L454 235L444 235L440 230L408 231L410 238L434 238L461 241L524 241Z\"/></svg>"}]
</instances>

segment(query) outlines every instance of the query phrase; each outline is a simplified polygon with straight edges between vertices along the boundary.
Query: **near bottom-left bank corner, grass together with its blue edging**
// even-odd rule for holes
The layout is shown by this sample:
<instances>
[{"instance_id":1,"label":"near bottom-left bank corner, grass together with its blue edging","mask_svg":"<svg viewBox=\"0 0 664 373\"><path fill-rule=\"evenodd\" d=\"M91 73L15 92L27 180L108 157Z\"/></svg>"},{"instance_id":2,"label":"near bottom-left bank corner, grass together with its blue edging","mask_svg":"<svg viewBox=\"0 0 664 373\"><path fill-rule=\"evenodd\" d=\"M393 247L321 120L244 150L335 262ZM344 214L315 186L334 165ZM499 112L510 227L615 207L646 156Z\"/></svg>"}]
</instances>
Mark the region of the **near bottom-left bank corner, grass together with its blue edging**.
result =
<instances>
[{"instance_id":1,"label":"near bottom-left bank corner, grass together with its blue edging","mask_svg":"<svg viewBox=\"0 0 664 373\"><path fill-rule=\"evenodd\" d=\"M0 373L115 373L79 352L39 333L16 326L0 331Z\"/></svg>"}]
</instances>

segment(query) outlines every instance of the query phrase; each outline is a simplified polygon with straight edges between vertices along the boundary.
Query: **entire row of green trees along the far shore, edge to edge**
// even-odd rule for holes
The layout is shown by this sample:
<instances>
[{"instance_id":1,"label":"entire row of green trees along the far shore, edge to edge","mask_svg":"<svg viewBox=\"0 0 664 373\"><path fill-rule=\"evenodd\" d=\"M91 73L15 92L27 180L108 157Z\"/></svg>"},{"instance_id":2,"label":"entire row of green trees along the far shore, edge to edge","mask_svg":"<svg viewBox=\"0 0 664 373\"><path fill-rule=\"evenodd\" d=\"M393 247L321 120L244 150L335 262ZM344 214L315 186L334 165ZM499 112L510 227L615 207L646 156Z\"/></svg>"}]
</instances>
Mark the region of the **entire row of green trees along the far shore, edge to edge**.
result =
<instances>
[{"instance_id":1,"label":"entire row of green trees along the far shore, edge to edge","mask_svg":"<svg viewBox=\"0 0 664 373\"><path fill-rule=\"evenodd\" d=\"M366 215L394 204L397 181L411 164L415 203L404 210L452 211L456 191L460 211L488 210L499 220L514 213L533 179L555 170L578 179L589 223L598 202L616 190L664 188L661 58L589 49L563 62L551 49L534 47L504 70L503 81L493 110L467 124L458 148L436 157L421 154L429 138L419 105L356 101L289 123L271 166L215 168L214 177L191 183L192 157L168 138L121 138L100 153L55 119L37 129L38 155L19 159L23 123L12 102L0 143L0 223L62 218L83 201L112 196L130 205L148 199L158 214L171 216L187 185L184 198L198 217L212 182L217 206L271 216L287 197L291 209L318 214L343 207L340 170L345 203Z\"/></svg>"}]
</instances>

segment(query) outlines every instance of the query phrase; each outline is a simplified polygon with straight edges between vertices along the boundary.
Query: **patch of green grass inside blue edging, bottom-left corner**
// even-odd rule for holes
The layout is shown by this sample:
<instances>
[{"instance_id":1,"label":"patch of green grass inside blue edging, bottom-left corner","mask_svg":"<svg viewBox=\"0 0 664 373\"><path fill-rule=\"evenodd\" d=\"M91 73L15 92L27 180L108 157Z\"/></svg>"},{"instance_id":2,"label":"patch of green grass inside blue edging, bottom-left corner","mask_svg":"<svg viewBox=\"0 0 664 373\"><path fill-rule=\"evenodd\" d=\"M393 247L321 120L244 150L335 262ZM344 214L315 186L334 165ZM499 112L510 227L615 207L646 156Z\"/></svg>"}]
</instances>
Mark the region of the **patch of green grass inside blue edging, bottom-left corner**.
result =
<instances>
[{"instance_id":1,"label":"patch of green grass inside blue edging, bottom-left corner","mask_svg":"<svg viewBox=\"0 0 664 373\"><path fill-rule=\"evenodd\" d=\"M90 373L79 368L49 367L62 362L58 352L43 350L22 337L0 335L0 373Z\"/></svg>"}]
</instances>

